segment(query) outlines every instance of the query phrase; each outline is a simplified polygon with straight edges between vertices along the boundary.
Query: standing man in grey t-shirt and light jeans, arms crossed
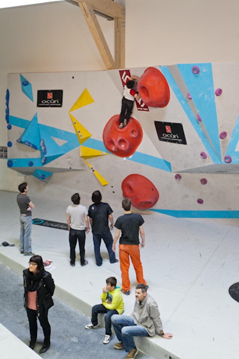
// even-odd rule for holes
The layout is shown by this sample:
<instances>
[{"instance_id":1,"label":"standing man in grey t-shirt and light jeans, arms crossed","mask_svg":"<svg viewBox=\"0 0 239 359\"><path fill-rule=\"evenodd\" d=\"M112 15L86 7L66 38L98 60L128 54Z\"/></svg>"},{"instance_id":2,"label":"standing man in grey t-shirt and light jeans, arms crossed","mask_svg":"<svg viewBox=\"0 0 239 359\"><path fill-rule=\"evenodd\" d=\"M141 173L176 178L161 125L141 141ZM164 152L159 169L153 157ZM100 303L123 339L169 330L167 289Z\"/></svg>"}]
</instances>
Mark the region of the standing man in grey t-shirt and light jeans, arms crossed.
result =
<instances>
[{"instance_id":1,"label":"standing man in grey t-shirt and light jeans, arms crossed","mask_svg":"<svg viewBox=\"0 0 239 359\"><path fill-rule=\"evenodd\" d=\"M23 182L18 186L19 195L16 197L20 209L20 253L24 256L33 256L32 253L32 208L34 204L27 196L28 185Z\"/></svg>"}]
</instances>

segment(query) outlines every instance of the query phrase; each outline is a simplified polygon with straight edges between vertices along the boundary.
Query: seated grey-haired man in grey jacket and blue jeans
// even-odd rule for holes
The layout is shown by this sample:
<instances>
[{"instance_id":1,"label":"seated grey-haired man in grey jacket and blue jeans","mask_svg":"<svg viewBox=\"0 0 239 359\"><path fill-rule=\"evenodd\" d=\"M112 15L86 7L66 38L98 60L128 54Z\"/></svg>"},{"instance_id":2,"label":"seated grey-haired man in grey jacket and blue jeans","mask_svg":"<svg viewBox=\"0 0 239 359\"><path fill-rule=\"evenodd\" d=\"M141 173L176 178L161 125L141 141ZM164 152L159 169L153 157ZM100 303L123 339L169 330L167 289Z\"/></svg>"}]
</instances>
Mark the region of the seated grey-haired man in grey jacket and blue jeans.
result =
<instances>
[{"instance_id":1,"label":"seated grey-haired man in grey jacket and blue jeans","mask_svg":"<svg viewBox=\"0 0 239 359\"><path fill-rule=\"evenodd\" d=\"M138 349L134 344L134 336L153 336L155 334L164 339L171 339L171 333L164 333L160 313L155 300L147 294L147 285L138 284L135 289L134 311L130 316L114 314L111 317L115 334L119 343L115 349L125 349L126 359L134 359Z\"/></svg>"}]
</instances>

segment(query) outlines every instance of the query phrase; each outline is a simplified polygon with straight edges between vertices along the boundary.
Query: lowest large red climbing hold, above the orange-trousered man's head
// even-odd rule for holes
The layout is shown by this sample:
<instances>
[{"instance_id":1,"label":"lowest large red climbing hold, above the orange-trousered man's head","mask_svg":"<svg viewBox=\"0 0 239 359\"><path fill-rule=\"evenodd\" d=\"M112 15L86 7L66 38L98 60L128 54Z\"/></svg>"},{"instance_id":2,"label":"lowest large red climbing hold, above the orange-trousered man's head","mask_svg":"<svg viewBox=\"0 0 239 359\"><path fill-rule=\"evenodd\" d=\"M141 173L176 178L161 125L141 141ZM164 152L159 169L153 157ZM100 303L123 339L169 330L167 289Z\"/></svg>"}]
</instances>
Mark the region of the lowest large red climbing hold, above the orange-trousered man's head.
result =
<instances>
[{"instance_id":1,"label":"lowest large red climbing hold, above the orange-trousered man's head","mask_svg":"<svg viewBox=\"0 0 239 359\"><path fill-rule=\"evenodd\" d=\"M159 199L159 193L154 184L141 174L130 174L121 184L123 197L129 197L132 205L138 209L148 209Z\"/></svg>"}]
</instances>

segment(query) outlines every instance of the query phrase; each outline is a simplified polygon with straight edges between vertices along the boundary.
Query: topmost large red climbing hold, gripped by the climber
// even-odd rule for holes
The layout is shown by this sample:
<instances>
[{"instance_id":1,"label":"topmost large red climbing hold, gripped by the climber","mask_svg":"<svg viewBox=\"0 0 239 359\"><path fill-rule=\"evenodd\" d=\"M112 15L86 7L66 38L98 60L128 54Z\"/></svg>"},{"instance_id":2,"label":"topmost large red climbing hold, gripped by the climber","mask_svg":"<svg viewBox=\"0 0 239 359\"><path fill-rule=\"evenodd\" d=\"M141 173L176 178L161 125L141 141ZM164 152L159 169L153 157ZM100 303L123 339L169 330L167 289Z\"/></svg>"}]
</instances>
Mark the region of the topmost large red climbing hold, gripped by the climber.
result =
<instances>
[{"instance_id":1,"label":"topmost large red climbing hold, gripped by the climber","mask_svg":"<svg viewBox=\"0 0 239 359\"><path fill-rule=\"evenodd\" d=\"M138 92L143 102L151 107L165 107L170 99L166 78L155 67L148 67L138 82Z\"/></svg>"}]
</instances>

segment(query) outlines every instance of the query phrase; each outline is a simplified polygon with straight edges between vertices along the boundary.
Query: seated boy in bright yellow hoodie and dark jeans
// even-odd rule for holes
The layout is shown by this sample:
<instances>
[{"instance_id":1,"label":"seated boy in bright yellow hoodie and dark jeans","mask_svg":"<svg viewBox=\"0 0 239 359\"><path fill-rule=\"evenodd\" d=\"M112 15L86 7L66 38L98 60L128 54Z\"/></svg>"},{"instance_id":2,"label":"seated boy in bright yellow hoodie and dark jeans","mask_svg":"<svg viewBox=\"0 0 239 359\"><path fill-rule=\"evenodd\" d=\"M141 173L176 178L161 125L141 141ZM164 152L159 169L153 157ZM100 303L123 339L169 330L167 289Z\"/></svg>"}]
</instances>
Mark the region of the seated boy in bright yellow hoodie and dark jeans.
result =
<instances>
[{"instance_id":1,"label":"seated boy in bright yellow hoodie and dark jeans","mask_svg":"<svg viewBox=\"0 0 239 359\"><path fill-rule=\"evenodd\" d=\"M124 301L122 298L120 287L116 286L117 280L115 277L106 279L106 287L102 289L100 296L102 304L96 304L92 307L91 323L85 326L86 329L98 328L98 313L105 314L105 339L104 344L108 344L111 340L111 316L113 314L122 314L124 311Z\"/></svg>"}]
</instances>

